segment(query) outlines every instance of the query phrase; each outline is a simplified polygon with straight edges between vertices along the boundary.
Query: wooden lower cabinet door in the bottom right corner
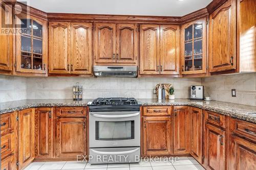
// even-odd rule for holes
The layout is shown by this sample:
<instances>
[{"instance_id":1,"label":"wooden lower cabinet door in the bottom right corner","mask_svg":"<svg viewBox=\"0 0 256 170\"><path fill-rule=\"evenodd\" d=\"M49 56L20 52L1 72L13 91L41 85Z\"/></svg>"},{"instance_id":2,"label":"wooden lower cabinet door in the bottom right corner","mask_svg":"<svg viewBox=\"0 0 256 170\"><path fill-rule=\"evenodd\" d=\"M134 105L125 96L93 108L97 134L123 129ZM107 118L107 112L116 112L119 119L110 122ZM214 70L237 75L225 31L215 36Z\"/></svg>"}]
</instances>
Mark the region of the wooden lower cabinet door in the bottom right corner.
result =
<instances>
[{"instance_id":1,"label":"wooden lower cabinet door in the bottom right corner","mask_svg":"<svg viewBox=\"0 0 256 170\"><path fill-rule=\"evenodd\" d=\"M256 144L235 134L230 135L229 169L256 169Z\"/></svg>"}]
</instances>

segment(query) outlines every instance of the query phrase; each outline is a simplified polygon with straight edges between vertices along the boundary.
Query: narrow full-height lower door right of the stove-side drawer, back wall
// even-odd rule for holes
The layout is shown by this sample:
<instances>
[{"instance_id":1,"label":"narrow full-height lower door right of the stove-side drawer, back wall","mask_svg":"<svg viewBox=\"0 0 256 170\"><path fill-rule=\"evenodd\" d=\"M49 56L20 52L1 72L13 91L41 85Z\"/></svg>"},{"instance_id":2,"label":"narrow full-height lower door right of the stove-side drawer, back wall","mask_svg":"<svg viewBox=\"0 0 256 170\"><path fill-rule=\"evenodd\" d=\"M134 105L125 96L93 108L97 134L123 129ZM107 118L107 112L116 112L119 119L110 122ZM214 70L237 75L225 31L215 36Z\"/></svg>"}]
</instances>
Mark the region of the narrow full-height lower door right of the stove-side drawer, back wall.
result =
<instances>
[{"instance_id":1,"label":"narrow full-height lower door right of the stove-side drawer, back wall","mask_svg":"<svg viewBox=\"0 0 256 170\"><path fill-rule=\"evenodd\" d=\"M174 106L174 154L190 153L190 116L187 106Z\"/></svg>"}]
</instances>

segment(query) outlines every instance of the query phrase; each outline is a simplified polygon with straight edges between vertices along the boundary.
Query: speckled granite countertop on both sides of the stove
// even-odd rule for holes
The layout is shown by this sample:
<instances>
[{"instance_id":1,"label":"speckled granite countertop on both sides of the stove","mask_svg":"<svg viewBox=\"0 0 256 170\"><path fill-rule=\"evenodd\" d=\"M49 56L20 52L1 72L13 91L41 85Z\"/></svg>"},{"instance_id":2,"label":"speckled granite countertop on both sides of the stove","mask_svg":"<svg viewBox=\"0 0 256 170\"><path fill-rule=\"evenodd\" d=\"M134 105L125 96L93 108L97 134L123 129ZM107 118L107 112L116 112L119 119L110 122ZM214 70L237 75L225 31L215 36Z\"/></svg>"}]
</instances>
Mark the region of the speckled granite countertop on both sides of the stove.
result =
<instances>
[{"instance_id":1,"label":"speckled granite countertop on both sides of the stove","mask_svg":"<svg viewBox=\"0 0 256 170\"><path fill-rule=\"evenodd\" d=\"M93 99L84 99L79 102L75 102L72 99L59 100L20 100L12 102L0 103L0 114L23 110L32 107L75 107L75 106L87 106L87 103L93 101ZM218 102L218 101L193 101L189 99L176 99L176 100L162 100L157 99L138 99L139 104L142 106L194 106L201 109L214 111L220 114L225 114L231 117L246 120L248 122L256 123L256 107L241 105L236 103Z\"/></svg>"}]
</instances>

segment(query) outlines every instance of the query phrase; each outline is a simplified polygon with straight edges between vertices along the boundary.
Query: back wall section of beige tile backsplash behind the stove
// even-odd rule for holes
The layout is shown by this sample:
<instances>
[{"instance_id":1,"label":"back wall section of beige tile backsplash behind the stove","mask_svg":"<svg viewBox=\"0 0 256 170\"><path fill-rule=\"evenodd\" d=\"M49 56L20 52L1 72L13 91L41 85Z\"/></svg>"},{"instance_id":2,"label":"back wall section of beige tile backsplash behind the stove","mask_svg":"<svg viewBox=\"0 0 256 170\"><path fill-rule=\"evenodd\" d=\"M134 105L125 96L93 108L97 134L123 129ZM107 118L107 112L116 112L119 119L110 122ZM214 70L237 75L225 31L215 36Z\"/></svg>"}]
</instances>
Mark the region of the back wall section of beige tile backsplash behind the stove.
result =
<instances>
[{"instance_id":1,"label":"back wall section of beige tile backsplash behind the stove","mask_svg":"<svg viewBox=\"0 0 256 170\"><path fill-rule=\"evenodd\" d=\"M28 78L27 99L72 99L72 86L83 86L83 98L125 96L154 99L153 88L158 83L171 83L176 98L189 98L189 87L201 85L201 79L173 78Z\"/></svg>"}]
</instances>

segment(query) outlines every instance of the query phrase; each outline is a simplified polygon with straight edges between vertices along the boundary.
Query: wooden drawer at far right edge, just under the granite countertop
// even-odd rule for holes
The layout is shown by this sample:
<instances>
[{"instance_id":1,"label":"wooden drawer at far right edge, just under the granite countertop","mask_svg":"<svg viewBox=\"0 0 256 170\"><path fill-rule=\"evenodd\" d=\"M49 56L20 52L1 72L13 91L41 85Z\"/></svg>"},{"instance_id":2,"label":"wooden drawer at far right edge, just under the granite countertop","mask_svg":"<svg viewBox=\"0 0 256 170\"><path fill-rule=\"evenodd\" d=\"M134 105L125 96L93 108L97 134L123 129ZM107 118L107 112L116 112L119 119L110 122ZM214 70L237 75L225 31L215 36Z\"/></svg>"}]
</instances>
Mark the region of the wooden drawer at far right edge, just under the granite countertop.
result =
<instances>
[{"instance_id":1,"label":"wooden drawer at far right edge, just under the granite countertop","mask_svg":"<svg viewBox=\"0 0 256 170\"><path fill-rule=\"evenodd\" d=\"M243 120L230 118L230 131L256 142L256 125Z\"/></svg>"}]
</instances>

